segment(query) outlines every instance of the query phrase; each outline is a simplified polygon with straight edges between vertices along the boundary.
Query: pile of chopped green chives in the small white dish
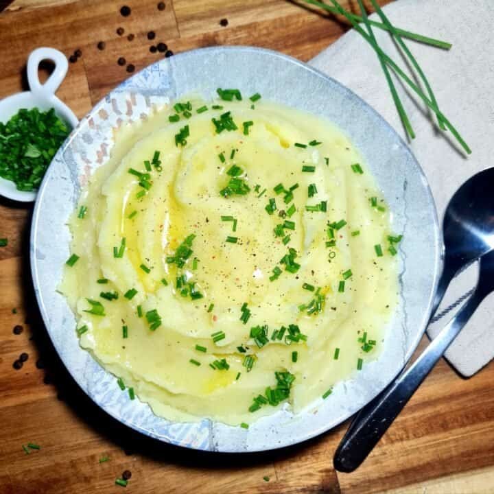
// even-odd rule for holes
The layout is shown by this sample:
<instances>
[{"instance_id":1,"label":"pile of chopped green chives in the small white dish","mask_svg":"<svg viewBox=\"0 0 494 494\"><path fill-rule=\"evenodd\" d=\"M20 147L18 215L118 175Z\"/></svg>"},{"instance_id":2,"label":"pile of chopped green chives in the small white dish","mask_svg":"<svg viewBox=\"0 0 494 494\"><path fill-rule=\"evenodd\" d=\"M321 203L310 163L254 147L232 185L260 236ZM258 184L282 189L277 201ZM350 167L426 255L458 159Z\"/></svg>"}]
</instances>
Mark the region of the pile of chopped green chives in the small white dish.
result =
<instances>
[{"instance_id":1,"label":"pile of chopped green chives in the small white dish","mask_svg":"<svg viewBox=\"0 0 494 494\"><path fill-rule=\"evenodd\" d=\"M0 177L20 191L38 189L69 132L54 108L21 109L5 124L0 122Z\"/></svg>"}]
</instances>

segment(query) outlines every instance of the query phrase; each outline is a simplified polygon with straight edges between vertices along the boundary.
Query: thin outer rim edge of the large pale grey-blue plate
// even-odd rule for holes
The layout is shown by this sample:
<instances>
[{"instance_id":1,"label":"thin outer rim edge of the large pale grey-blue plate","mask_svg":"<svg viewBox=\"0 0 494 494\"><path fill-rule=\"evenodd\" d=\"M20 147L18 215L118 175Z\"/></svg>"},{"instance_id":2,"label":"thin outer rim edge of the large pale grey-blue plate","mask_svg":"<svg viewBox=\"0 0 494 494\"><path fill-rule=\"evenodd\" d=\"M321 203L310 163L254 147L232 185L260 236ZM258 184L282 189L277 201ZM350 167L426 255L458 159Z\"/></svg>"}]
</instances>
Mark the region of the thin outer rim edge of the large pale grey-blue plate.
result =
<instances>
[{"instance_id":1,"label":"thin outer rim edge of the large pale grey-blue plate","mask_svg":"<svg viewBox=\"0 0 494 494\"><path fill-rule=\"evenodd\" d=\"M219 51L225 51L225 50L226 51L239 51L240 53L245 53L248 51L261 52L261 53L264 53L264 54L267 54L270 56L275 56L277 58L281 58L281 59L285 60L286 62L296 64L298 67L301 67L302 69L305 69L311 73L314 73L314 75L317 75L319 78L322 78L324 80L328 80L329 82L331 82L331 84L338 86L338 88L340 89L340 91L342 91L342 93L346 93L346 95L349 95L351 98L357 99L359 102L361 102L364 105L364 107L366 108L366 111L371 113L375 119L379 120L381 122L381 125L386 128L387 132L390 132L390 134L393 135L393 137L397 140L397 142L399 142L403 146L403 148L405 148L405 150L408 152L408 154L410 154L410 157L412 158L412 162L414 163L416 172L418 172L419 176L421 177L423 187L424 187L425 191L427 192L427 198L430 202L430 209L431 209L430 212L432 213L432 219L433 219L432 227L434 230L434 239L432 239L432 243L434 245L434 273L431 274L431 277L433 278L432 290L430 291L430 294L428 296L428 301L427 301L427 314L430 314L430 311L432 309L432 302L433 302L433 298L434 298L434 293L436 292L437 285L438 285L439 273L442 270L442 266L443 266L444 247L443 247L442 237L440 235L440 226L439 226L439 222L438 222L438 213L437 213L437 209L436 209L436 204L434 202L434 197L432 196L432 191L430 189L430 185L427 181L427 178L423 172L421 165L416 160L416 158L415 158L412 150L408 146L408 144L405 143L405 141L398 134L398 132L394 128L392 128L392 126L390 126L390 124L388 124L388 121L386 121L386 119L384 119L384 117L382 117L364 99L362 99L356 93L351 91L351 89L347 88L346 86L344 86L343 84L338 82L338 80L331 78L329 75L326 75L325 73L322 73L318 69L311 67L309 64L302 62L301 60L298 60L292 56L282 54L279 51L274 51L271 49L260 48L260 47L246 46L246 45L241 45L241 46L235 46L235 45L223 46L223 45L220 45L220 46L214 46L214 47L205 47L205 48L198 48L198 49L183 51L180 54L174 55L173 63L176 63L176 61L179 63L181 58L186 58L189 54L191 54L191 52L199 52L199 53L203 54L203 53L206 53L208 51L218 51L218 50ZM165 60L171 60L171 59L165 59ZM67 147L71 143L72 139L75 137L75 134L77 134L80 131L80 129L83 128L85 124L87 124L87 120L91 117L91 115L97 113L97 111L102 106L102 104L104 104L104 102L106 102L109 95L111 95L115 91L118 91L118 89L121 88L122 86L124 86L124 84L128 83L128 81L132 80L133 78L136 78L139 75L139 73L141 73L142 71L149 69L150 67L157 65L161 62L163 62L163 60L158 60L157 62L154 62L153 64L150 64L146 67L143 67L143 69L141 69L141 71L133 74L130 78L127 78L126 80L124 80L123 82L121 82L120 84L115 86L115 88L113 88L107 95L102 97L102 99L100 99L99 102L97 102L97 104L95 104L95 106L93 106L93 108L91 108L89 113L87 113L80 120L78 126L75 126L75 128L73 128L73 130L71 131L71 134L69 134L69 137L67 137L67 140L62 145L62 148L60 148L60 150L64 151L67 149ZM30 262L30 264L31 264L32 279L33 279L35 292L36 292L36 301L38 302L38 306L40 307L40 312L41 312L42 317L43 317L43 322L45 323L45 327L47 328L47 332L49 333L51 342L52 342L52 344L54 344L54 346L56 348L56 342L52 338L51 333L48 329L49 328L49 325L48 325L49 317L47 315L47 310L46 310L46 307L43 303L43 299L42 299L42 296L40 294L40 291L38 290L39 283L38 283L38 272L37 272L37 267L36 267L37 260L36 260L36 254L35 254L36 251L34 249L34 244L35 244L35 240L36 240L36 228L37 228L38 217L39 217L39 213L40 213L39 212L40 203L41 203L41 200L43 199L43 195L45 192L45 188L47 186L47 180L48 179L49 179L49 174L47 173L47 174L45 174L45 178L43 178L43 182L41 183L40 188L38 189L39 193L38 193L38 197L36 198L36 204L34 206L34 211L33 211L33 215L32 215L32 228L31 228L31 235L30 235L30 244L31 244L31 249L30 249L30 261L31 262ZM410 357L412 357L412 354L416 350L416 347L419 345L421 338L423 338L423 334L425 333L426 328L427 328L427 323L425 322L423 324L423 327L421 328L421 330L416 332L415 338L410 342L410 344L409 344L409 346L405 352L405 355L404 355L406 362L408 362L410 360ZM59 353L58 349L57 349L57 353ZM60 353L59 353L59 355L60 355ZM92 355L91 355L91 358L93 358ZM80 386L80 388L82 388L82 390L86 393L86 395L88 395L91 398L91 400L95 403L95 405L97 405L99 408L103 408L100 403L97 403L97 401L95 401L95 399L93 399L93 397L91 395L89 395L89 393L86 392L86 390L84 390L84 387L82 386L82 384L80 384L78 377L76 375L74 375L71 368L69 368L69 366L67 366L67 364L64 362L61 355L60 355L60 359L64 363L64 366L67 368L67 371L69 372L71 377L73 377L74 381L78 383L78 386ZM108 371L106 371L106 372L108 372ZM400 372L401 372L401 369L399 371L397 371L395 376L398 375ZM386 388L386 386L388 386L388 384L390 384L390 382L395 378L395 376L388 379L388 381L386 382L386 385L382 386L382 388L380 390L377 390L375 392L375 394L373 395L373 397L367 401L367 403L369 401L371 401L372 399L374 399L377 395L379 395L379 393L384 388ZM150 430L147 430L143 427L140 427L139 424L133 423L132 421L128 421L128 420L124 419L124 417L117 416L117 414L111 412L110 410L106 410L106 408L103 408L103 410L106 413L110 414L110 416L113 416L113 418L115 420L119 421L120 423L124 423L124 425L131 427L133 430L141 432L141 433L145 434L146 436L152 437L154 439L161 440L165 443L174 444L171 441L167 440L166 438L163 438L162 436L160 436L158 434L154 434ZM219 450L217 450L217 449L209 450L208 449L207 451L228 452L228 453L244 453L244 452L252 453L252 452L258 452L258 451L270 451L273 449L290 447L290 446L296 445L298 443L303 443L306 440L309 440L311 438L319 436L320 434L323 434L325 432L328 432L329 430L333 429L334 427L337 427L338 425L340 425L343 421L348 419L354 413L355 413L355 411L353 411L351 413L344 412L343 414L340 415L340 418L338 419L338 421L336 423L331 423L330 425L325 425L325 426L319 427L318 429L314 429L311 431L311 434L307 434L304 438L290 438L289 440L283 442L282 445L274 445L273 444L270 447L249 448L246 451L230 450L230 449L219 449ZM186 447L187 449L200 449L198 447L194 447L193 445L187 445L187 444L185 444L185 445L180 444L180 447Z\"/></svg>"}]
</instances>

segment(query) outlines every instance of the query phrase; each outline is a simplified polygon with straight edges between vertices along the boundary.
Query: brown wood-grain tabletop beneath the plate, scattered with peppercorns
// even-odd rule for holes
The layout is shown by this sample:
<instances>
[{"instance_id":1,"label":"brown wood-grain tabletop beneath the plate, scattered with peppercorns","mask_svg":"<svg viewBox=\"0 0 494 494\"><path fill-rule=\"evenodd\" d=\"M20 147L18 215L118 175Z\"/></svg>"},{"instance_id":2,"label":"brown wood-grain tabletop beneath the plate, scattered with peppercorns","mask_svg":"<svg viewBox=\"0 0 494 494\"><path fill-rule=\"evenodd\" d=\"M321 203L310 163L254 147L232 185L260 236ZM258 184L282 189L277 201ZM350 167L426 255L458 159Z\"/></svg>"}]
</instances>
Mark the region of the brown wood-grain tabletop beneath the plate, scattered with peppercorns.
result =
<instances>
[{"instance_id":1,"label":"brown wood-grain tabletop beneath the plate, scattered with peppercorns","mask_svg":"<svg viewBox=\"0 0 494 494\"><path fill-rule=\"evenodd\" d=\"M165 10L157 0L128 0L128 17L119 14L123 3L0 0L0 97L26 89L26 58L39 46L67 56L82 50L58 92L82 117L128 76L119 57L139 70L163 56L150 52L152 44L174 52L257 45L309 60L347 29L285 0L167 0ZM297 447L252 455L169 447L119 425L78 388L49 342L30 277L31 215L31 205L0 198L0 237L8 238L0 248L0 494L117 493L124 470L132 471L126 490L139 494L494 493L493 363L464 380L440 362L352 474L332 467L347 424ZM14 333L16 325L22 333ZM15 370L23 352L28 360ZM25 454L29 442L41 449ZM110 459L99 463L104 456Z\"/></svg>"}]
</instances>

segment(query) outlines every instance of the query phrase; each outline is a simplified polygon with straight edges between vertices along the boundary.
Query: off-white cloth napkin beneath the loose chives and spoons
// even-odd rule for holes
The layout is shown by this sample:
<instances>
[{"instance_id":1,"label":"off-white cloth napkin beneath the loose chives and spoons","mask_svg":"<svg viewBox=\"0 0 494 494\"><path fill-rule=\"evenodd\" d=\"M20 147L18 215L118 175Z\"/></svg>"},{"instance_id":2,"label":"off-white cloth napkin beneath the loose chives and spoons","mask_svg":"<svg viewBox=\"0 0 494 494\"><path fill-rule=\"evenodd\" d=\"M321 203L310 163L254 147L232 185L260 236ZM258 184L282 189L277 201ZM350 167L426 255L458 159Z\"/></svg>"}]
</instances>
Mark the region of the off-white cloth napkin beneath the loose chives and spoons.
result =
<instances>
[{"instance_id":1,"label":"off-white cloth napkin beneath the loose chives and spoons","mask_svg":"<svg viewBox=\"0 0 494 494\"><path fill-rule=\"evenodd\" d=\"M406 42L427 75L443 113L469 143L473 153L458 152L451 136L432 125L423 104L416 104L397 84L416 139L410 143L432 188L440 222L454 191L471 175L494 166L494 9L492 0L399 0L384 12L397 27L453 43L449 51ZM376 14L371 19L379 21ZM376 29L379 45L401 67L392 40ZM373 106L405 139L386 80L373 49L354 30L309 62ZM493 184L494 194L494 184ZM434 338L475 285L478 267L471 266L451 284L438 317L427 330ZM494 357L494 297L477 313L446 353L456 370L469 377Z\"/></svg>"}]
</instances>

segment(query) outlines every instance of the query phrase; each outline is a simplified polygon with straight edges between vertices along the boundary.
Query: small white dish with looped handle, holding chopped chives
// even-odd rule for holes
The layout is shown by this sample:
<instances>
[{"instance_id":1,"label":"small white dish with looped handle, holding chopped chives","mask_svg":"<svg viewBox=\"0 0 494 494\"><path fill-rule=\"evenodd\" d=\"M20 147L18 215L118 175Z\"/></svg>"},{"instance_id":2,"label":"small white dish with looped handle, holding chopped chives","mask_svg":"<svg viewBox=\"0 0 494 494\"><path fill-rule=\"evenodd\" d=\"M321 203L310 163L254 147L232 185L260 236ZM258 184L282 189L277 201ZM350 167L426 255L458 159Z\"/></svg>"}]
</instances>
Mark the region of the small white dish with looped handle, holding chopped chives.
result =
<instances>
[{"instance_id":1,"label":"small white dish with looped handle, holding chopped chives","mask_svg":"<svg viewBox=\"0 0 494 494\"><path fill-rule=\"evenodd\" d=\"M41 84L38 78L38 67L43 60L51 60L55 64L55 69L45 84ZM21 108L37 107L44 111L54 108L58 117L63 119L71 128L75 128L79 124L78 117L55 95L68 69L69 63L61 51L54 48L37 48L32 51L27 59L27 82L31 91L16 93L1 99L0 121L5 124ZM13 182L0 177L0 196L20 202L32 202L36 199L37 193L38 191L17 190Z\"/></svg>"}]
</instances>

